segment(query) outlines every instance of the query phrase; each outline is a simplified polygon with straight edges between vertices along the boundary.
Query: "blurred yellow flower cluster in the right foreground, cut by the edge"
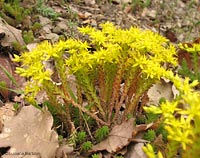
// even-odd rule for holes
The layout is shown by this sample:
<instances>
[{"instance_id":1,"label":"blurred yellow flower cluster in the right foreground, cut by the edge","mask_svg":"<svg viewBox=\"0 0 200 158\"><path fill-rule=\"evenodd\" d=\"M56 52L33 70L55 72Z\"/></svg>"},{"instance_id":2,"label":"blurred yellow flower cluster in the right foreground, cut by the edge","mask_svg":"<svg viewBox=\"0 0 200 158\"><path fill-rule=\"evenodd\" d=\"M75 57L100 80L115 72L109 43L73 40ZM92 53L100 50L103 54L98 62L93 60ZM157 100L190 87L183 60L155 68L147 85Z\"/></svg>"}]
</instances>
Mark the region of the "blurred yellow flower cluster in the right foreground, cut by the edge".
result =
<instances>
[{"instance_id":1,"label":"blurred yellow flower cluster in the right foreground, cut by the edge","mask_svg":"<svg viewBox=\"0 0 200 158\"><path fill-rule=\"evenodd\" d=\"M168 73L167 77L174 83L180 95L172 102L166 101L160 106L145 107L145 110L162 114L169 144L172 144L169 147L176 148L173 144L179 144L182 146L183 155L190 157L190 154L193 153L198 157L200 155L194 149L200 141L198 138L200 133L200 93L193 90L193 87L198 85L198 81L189 83L189 78L183 80L177 75L174 76L172 72Z\"/></svg>"}]
</instances>

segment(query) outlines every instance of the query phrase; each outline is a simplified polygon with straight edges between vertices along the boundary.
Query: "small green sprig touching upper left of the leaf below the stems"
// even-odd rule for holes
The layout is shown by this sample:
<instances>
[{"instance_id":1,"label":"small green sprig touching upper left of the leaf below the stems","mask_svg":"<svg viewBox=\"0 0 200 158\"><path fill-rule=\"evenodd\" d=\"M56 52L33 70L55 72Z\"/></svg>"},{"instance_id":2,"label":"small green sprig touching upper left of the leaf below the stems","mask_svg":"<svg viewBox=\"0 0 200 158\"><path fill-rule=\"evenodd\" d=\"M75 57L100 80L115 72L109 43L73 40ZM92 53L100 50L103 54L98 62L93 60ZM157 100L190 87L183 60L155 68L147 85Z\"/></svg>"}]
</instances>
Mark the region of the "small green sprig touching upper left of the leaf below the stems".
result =
<instances>
[{"instance_id":1,"label":"small green sprig touching upper left of the leaf below the stems","mask_svg":"<svg viewBox=\"0 0 200 158\"><path fill-rule=\"evenodd\" d=\"M103 126L99 129L97 129L96 134L95 134L95 138L97 140L97 142L102 141L103 139L105 139L109 134L109 128L108 126Z\"/></svg>"}]
</instances>

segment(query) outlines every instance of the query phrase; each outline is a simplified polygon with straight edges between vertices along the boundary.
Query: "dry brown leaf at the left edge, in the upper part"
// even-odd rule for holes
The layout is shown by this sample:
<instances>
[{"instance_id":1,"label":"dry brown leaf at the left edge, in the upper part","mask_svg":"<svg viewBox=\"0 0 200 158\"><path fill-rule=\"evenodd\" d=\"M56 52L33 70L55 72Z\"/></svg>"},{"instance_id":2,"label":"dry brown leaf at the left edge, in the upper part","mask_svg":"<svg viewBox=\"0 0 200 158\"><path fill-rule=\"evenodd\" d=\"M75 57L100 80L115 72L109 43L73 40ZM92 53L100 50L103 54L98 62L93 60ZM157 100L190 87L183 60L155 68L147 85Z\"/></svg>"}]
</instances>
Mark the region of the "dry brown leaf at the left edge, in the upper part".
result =
<instances>
[{"instance_id":1,"label":"dry brown leaf at the left edge, in the upper part","mask_svg":"<svg viewBox=\"0 0 200 158\"><path fill-rule=\"evenodd\" d=\"M0 32L5 33L5 37L1 39L2 46L12 46L13 43L19 43L24 45L22 33L20 30L7 24L2 18L0 18Z\"/></svg>"}]
</instances>

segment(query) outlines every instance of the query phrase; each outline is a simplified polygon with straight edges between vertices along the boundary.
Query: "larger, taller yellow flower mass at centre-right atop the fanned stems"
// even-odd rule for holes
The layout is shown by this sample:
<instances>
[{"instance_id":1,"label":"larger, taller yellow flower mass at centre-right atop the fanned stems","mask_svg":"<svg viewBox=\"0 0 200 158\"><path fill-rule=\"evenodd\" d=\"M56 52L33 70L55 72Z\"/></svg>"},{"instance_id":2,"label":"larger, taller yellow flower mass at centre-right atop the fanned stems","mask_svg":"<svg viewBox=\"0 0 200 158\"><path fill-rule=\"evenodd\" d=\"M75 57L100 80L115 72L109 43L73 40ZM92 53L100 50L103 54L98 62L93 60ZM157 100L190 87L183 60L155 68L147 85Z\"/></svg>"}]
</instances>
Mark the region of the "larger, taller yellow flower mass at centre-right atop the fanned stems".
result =
<instances>
[{"instance_id":1,"label":"larger, taller yellow flower mass at centre-right atop the fanned stems","mask_svg":"<svg viewBox=\"0 0 200 158\"><path fill-rule=\"evenodd\" d=\"M86 67L87 70L92 70L99 64L119 64L126 59L125 69L139 67L147 77L160 78L166 71L164 63L177 65L175 48L168 44L166 38L135 27L129 30L118 29L108 22L101 27L101 31L91 27L79 28L81 33L89 35L95 50L90 52L80 51L78 47L73 48L76 51L66 60L72 72Z\"/></svg>"}]
</instances>

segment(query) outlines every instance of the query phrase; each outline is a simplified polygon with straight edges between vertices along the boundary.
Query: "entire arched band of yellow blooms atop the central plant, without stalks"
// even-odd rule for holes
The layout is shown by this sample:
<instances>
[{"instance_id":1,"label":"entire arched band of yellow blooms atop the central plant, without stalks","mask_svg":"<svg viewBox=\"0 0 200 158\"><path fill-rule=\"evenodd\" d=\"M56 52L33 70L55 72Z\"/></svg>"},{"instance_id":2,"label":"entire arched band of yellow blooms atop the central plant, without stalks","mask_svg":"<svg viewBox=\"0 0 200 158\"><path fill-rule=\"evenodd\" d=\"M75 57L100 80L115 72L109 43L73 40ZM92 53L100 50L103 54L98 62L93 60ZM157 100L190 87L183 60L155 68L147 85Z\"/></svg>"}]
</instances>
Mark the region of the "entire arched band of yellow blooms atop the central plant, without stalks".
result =
<instances>
[{"instance_id":1,"label":"entire arched band of yellow blooms atop the central plant, without stalks","mask_svg":"<svg viewBox=\"0 0 200 158\"><path fill-rule=\"evenodd\" d=\"M140 69L143 77L151 79L164 76L167 72L166 64L177 64L175 48L159 34L136 27L122 30L109 22L101 27L102 30L92 27L79 28L81 33L89 37L85 42L68 39L52 45L44 41L31 52L15 55L14 61L22 64L16 72L30 79L26 93L35 94L40 90L38 87L34 88L35 86L40 87L44 81L51 81L53 72L44 64L48 60L57 61L58 70L59 67L66 66L74 74L87 74L96 71L99 65L118 66L124 62L123 69L126 72ZM58 62L59 60L64 62ZM62 69L60 73L64 71Z\"/></svg>"}]
</instances>

